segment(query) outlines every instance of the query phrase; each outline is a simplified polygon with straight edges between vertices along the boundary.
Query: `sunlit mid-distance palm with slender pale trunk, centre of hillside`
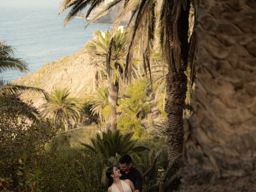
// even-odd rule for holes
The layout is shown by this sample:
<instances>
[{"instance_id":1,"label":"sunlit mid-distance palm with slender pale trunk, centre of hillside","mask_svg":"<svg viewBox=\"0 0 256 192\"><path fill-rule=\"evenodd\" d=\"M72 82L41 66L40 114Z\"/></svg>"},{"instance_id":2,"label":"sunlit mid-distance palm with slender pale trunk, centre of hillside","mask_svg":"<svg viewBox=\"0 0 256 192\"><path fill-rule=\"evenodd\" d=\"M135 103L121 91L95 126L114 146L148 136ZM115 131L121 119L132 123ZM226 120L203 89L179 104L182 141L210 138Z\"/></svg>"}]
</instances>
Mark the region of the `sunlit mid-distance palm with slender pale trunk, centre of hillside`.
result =
<instances>
[{"instance_id":1,"label":"sunlit mid-distance palm with slender pale trunk, centre of hillside","mask_svg":"<svg viewBox=\"0 0 256 192\"><path fill-rule=\"evenodd\" d=\"M106 55L108 54L108 44L111 34L107 30L105 33L96 31L96 38L88 42L86 45L87 51L93 55L92 63L96 67L100 66L98 74L107 72L108 82L108 102L110 104L110 126L113 131L116 131L116 106L118 101L119 86L124 76L125 49L127 45L127 32L118 30L114 37L114 46L111 48L111 63L106 64ZM104 66L102 69L101 67ZM103 70L103 71L102 71Z\"/></svg>"}]
</instances>

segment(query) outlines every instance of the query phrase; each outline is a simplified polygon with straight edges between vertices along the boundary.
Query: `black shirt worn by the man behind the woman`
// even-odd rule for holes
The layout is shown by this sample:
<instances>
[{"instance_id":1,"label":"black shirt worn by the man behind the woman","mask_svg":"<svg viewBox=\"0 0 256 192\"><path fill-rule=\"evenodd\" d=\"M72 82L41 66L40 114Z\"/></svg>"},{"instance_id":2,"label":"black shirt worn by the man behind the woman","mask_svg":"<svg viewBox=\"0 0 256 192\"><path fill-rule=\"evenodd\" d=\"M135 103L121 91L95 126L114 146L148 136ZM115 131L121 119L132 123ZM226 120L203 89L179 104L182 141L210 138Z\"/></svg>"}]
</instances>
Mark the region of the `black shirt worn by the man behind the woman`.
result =
<instances>
[{"instance_id":1,"label":"black shirt worn by the man behind the woman","mask_svg":"<svg viewBox=\"0 0 256 192\"><path fill-rule=\"evenodd\" d=\"M120 170L120 167L118 167ZM138 169L131 167L130 171L126 174L124 171L120 170L122 176L120 179L129 179L133 182L135 189L138 189L142 192L142 177Z\"/></svg>"}]
</instances>

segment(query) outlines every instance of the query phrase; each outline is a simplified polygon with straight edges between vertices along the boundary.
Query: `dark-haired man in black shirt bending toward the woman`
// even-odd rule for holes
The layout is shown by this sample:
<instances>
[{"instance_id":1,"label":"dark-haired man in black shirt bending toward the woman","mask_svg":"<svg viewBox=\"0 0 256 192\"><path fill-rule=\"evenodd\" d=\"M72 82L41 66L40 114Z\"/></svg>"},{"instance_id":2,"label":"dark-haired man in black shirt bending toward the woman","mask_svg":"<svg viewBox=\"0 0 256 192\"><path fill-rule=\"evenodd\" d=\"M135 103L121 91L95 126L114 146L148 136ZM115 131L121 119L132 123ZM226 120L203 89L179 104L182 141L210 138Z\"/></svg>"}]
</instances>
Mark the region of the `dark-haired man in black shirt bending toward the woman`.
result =
<instances>
[{"instance_id":1,"label":"dark-haired man in black shirt bending toward the woman","mask_svg":"<svg viewBox=\"0 0 256 192\"><path fill-rule=\"evenodd\" d=\"M133 182L135 191L142 192L142 177L140 171L132 167L132 158L128 154L124 154L119 159L120 179L129 179Z\"/></svg>"}]
</instances>

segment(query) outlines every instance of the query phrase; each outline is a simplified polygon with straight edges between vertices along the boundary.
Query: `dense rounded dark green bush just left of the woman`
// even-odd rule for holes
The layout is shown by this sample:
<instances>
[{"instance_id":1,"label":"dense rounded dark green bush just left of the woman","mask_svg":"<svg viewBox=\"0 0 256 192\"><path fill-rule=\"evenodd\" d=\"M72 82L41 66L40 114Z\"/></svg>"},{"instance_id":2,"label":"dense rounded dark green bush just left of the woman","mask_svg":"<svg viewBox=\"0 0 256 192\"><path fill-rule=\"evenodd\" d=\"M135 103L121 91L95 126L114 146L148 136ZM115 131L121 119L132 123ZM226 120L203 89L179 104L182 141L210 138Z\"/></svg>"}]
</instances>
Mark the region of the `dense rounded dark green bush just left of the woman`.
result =
<instances>
[{"instance_id":1,"label":"dense rounded dark green bush just left of the woman","mask_svg":"<svg viewBox=\"0 0 256 192\"><path fill-rule=\"evenodd\" d=\"M71 148L50 157L50 166L42 172L45 192L99 192L95 156L88 151Z\"/></svg>"}]
</instances>

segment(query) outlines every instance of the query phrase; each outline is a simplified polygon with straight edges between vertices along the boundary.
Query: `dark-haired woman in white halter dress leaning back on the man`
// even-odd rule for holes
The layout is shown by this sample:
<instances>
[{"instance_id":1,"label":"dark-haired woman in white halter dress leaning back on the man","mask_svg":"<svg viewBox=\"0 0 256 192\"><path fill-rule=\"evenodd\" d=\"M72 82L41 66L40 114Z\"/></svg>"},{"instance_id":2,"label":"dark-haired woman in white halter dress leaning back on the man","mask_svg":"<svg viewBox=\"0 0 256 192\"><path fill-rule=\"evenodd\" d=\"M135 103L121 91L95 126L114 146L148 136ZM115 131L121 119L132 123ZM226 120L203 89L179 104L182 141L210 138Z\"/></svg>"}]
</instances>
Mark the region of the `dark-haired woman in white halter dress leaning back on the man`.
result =
<instances>
[{"instance_id":1,"label":"dark-haired woman in white halter dress leaning back on the man","mask_svg":"<svg viewBox=\"0 0 256 192\"><path fill-rule=\"evenodd\" d=\"M106 171L108 178L108 192L133 192L135 190L134 184L128 180L120 180L120 170L116 167L110 167Z\"/></svg>"}]
</instances>

